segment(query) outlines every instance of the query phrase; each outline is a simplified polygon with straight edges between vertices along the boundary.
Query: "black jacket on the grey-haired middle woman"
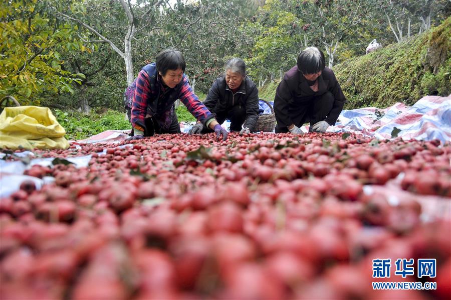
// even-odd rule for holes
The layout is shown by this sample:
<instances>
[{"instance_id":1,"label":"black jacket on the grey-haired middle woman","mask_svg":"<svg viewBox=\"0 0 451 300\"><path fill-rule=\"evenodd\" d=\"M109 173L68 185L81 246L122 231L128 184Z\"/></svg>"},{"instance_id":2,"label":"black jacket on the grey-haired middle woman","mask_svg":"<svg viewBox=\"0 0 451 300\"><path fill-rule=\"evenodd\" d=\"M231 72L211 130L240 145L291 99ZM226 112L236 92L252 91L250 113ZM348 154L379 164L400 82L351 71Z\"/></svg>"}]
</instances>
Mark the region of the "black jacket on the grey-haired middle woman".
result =
<instances>
[{"instance_id":1,"label":"black jacket on the grey-haired middle woman","mask_svg":"<svg viewBox=\"0 0 451 300\"><path fill-rule=\"evenodd\" d=\"M229 111L235 105L246 106L246 120L244 127L253 131L259 118L259 90L255 83L246 76L238 91L234 94L225 83L225 76L217 78L203 104L212 113Z\"/></svg>"}]
</instances>

